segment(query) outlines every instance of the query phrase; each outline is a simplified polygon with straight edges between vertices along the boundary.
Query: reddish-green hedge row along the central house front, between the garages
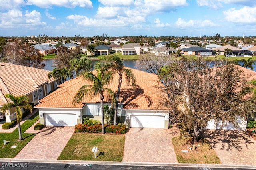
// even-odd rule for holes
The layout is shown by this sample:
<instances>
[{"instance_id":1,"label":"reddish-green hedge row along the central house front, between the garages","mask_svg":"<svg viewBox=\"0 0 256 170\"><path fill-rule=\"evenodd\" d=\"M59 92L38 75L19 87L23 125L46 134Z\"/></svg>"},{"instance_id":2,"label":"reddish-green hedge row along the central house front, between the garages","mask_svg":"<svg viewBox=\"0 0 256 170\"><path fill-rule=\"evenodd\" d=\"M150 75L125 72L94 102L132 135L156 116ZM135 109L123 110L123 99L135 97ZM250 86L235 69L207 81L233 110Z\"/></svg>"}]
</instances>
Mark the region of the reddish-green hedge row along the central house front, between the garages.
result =
<instances>
[{"instance_id":1,"label":"reddish-green hedge row along the central house front, between the garages","mask_svg":"<svg viewBox=\"0 0 256 170\"><path fill-rule=\"evenodd\" d=\"M125 134L125 125L105 125L106 133L120 133ZM88 125L88 124L77 124L75 126L75 132L88 132L88 133L100 133L102 132L101 125Z\"/></svg>"}]
</instances>

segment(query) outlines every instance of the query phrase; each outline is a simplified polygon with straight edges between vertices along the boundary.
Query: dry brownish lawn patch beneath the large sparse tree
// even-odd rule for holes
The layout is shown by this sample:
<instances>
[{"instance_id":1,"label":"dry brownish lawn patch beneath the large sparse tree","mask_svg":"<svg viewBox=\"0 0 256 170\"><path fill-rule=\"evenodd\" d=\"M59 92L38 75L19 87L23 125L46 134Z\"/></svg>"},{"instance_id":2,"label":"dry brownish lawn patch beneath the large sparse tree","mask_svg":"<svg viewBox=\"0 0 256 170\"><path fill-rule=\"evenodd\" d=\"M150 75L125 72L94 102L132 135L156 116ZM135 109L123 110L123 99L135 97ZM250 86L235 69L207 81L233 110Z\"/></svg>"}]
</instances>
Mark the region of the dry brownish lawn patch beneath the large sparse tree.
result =
<instances>
[{"instance_id":1,"label":"dry brownish lawn patch beneath the large sparse tree","mask_svg":"<svg viewBox=\"0 0 256 170\"><path fill-rule=\"evenodd\" d=\"M208 144L207 140L200 139L196 150L190 150L188 146L192 145L188 142L188 137L177 136L172 138L172 144L176 154L178 163L186 164L221 164L220 159L215 151ZM188 150L188 153L181 152Z\"/></svg>"}]
</instances>

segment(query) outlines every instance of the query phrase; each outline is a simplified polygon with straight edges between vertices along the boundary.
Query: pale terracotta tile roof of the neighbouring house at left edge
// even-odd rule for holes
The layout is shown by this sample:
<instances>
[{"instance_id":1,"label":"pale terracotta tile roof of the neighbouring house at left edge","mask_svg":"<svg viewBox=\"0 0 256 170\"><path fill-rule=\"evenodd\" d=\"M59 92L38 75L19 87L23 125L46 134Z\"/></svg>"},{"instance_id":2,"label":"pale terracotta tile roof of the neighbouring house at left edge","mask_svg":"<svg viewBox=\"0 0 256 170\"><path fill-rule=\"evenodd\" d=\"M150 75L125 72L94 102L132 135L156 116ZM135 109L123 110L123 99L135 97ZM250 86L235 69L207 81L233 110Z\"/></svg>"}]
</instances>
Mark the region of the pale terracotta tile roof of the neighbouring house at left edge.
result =
<instances>
[{"instance_id":1,"label":"pale terracotta tile roof of the neighbouring house at left edge","mask_svg":"<svg viewBox=\"0 0 256 170\"><path fill-rule=\"evenodd\" d=\"M54 81L48 79L49 72L44 69L1 62L0 91L4 95L8 93L14 96L27 95L37 90L38 86ZM2 105L1 101L0 105Z\"/></svg>"}]
</instances>

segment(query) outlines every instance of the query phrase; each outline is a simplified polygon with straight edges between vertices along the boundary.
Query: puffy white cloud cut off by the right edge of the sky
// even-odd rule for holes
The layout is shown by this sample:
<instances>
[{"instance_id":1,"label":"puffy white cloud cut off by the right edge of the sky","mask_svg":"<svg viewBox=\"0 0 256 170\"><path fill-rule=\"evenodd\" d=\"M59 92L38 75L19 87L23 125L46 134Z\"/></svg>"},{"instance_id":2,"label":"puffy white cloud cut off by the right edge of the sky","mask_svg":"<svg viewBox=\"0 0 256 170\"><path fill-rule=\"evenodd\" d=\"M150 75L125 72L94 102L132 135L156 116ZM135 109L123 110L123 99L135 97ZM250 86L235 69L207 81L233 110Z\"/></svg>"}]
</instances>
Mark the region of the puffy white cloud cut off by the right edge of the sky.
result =
<instances>
[{"instance_id":1,"label":"puffy white cloud cut off by the right edge of the sky","mask_svg":"<svg viewBox=\"0 0 256 170\"><path fill-rule=\"evenodd\" d=\"M255 23L256 21L256 7L244 6L239 10L231 8L223 11L223 14L225 15L225 19L230 22Z\"/></svg>"}]
</instances>

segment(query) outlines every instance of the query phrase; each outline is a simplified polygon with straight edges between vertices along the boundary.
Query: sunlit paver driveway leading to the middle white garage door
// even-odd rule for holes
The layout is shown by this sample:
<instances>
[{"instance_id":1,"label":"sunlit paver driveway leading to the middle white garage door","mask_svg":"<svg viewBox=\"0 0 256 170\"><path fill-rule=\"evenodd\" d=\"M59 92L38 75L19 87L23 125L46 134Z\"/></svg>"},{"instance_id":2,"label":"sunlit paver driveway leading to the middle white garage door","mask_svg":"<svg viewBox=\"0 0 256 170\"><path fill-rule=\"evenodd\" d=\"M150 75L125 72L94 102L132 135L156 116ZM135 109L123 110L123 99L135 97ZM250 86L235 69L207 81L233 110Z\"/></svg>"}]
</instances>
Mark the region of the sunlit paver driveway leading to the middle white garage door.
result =
<instances>
[{"instance_id":1,"label":"sunlit paver driveway leading to the middle white garage door","mask_svg":"<svg viewBox=\"0 0 256 170\"><path fill-rule=\"evenodd\" d=\"M125 135L123 162L178 163L172 137L176 128L130 128Z\"/></svg>"}]
</instances>

